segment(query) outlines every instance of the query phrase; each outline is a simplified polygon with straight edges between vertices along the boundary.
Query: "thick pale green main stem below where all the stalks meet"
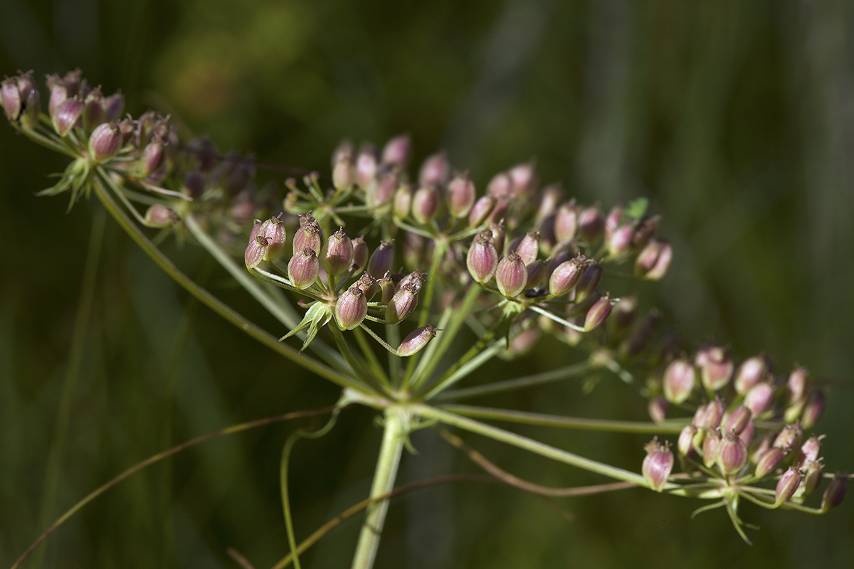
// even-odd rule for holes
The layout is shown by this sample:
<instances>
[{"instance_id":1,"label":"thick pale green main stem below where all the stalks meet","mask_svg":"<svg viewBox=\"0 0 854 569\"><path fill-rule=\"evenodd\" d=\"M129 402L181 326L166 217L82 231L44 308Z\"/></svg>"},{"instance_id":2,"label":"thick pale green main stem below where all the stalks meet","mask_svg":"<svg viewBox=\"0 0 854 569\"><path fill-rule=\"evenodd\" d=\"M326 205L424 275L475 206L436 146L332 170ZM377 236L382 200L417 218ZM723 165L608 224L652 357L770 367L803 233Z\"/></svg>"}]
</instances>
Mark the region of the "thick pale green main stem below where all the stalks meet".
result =
<instances>
[{"instance_id":1,"label":"thick pale green main stem below where all the stalks meet","mask_svg":"<svg viewBox=\"0 0 854 569\"><path fill-rule=\"evenodd\" d=\"M403 443L407 438L409 415L403 409L389 408L385 414L383 443L380 446L377 469L371 485L371 498L388 494L395 487L397 468L401 462ZM365 524L359 534L359 543L353 557L353 569L371 569L377 557L379 540L383 533L388 499L372 504L367 511Z\"/></svg>"}]
</instances>

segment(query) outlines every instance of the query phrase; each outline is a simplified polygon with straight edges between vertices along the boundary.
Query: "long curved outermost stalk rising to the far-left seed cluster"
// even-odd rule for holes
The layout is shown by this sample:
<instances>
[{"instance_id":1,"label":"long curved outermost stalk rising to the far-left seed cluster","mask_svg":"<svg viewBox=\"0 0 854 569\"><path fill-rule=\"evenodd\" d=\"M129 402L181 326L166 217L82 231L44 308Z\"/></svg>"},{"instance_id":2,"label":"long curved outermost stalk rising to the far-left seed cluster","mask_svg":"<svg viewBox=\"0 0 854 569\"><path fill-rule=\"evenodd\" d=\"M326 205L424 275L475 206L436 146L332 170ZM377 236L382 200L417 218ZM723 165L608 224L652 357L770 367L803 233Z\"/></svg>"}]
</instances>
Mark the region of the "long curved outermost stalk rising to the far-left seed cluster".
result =
<instances>
[{"instance_id":1,"label":"long curved outermost stalk rising to the far-left seed cluster","mask_svg":"<svg viewBox=\"0 0 854 569\"><path fill-rule=\"evenodd\" d=\"M249 320L244 316L232 309L231 306L223 304L219 299L214 297L213 294L208 293L206 289L197 285L196 282L193 282L190 277L184 275L183 272L178 270L178 267L175 266L172 260L161 253L160 249L155 247L154 244L149 241L149 238L146 237L137 227L137 225L127 217L126 213L123 212L119 205L113 200L113 197L109 195L107 189L103 187L100 179L97 177L94 178L93 186L98 199L101 200L101 203L107 208L110 215L113 216L122 229L125 229L133 241L136 241L137 245L142 247L143 251L148 253L149 257L154 260L155 264L164 270L167 275L171 276L175 282L178 282L179 285L195 296L196 299L201 300L202 304L207 305L208 308L219 314L219 316L222 316L225 320L231 322L255 340L260 341L261 344L266 345L273 351L277 351L282 356L287 357L292 362L302 366L313 374L318 374L320 377L330 380L338 386L352 387L357 391L363 391L362 386L355 383L352 379L339 374L334 369L327 367L325 364L318 362L312 357L302 355L299 351L290 347L290 345L279 342L276 338L272 337L272 335L267 334L252 322L249 322Z\"/></svg>"}]
</instances>

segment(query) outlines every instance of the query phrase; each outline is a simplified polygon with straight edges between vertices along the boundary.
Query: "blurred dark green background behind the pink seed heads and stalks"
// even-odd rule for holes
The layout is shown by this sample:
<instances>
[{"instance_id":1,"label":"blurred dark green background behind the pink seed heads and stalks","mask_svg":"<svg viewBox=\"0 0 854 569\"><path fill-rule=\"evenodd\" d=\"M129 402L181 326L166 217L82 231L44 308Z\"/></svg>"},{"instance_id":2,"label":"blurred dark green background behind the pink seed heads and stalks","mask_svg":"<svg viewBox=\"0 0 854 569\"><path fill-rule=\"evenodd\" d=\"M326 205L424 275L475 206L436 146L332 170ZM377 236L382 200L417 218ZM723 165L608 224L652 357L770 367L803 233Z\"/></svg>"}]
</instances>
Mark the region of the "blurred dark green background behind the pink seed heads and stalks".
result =
<instances>
[{"instance_id":1,"label":"blurred dark green background behind the pink seed heads and stalks","mask_svg":"<svg viewBox=\"0 0 854 569\"><path fill-rule=\"evenodd\" d=\"M535 157L541 180L605 208L647 196L676 258L647 300L689 340L767 351L828 385L818 432L828 470L852 469L854 432L854 5L605 0L397 3L330 0L3 0L0 73L81 67L127 110L172 113L223 151L328 171L343 137L412 135L447 148L479 187ZM43 90L43 105L46 104ZM333 402L337 391L196 305L108 220L85 343L73 350L95 204L37 199L64 160L0 126L0 566L50 520L126 467L197 434ZM281 183L276 172L266 178ZM213 264L179 264L278 330ZM275 333L275 332L274 332ZM505 366L570 359L555 345ZM75 354L76 381L67 380ZM608 380L520 394L523 409L644 420ZM510 404L496 398L485 404ZM316 424L303 421L303 424ZM287 543L278 459L292 425L221 438L117 486L26 566L234 567L234 546L270 566ZM634 470L644 438L516 428ZM298 444L298 537L366 495L379 431L349 410ZM475 471L417 433L401 481ZM600 481L478 438L541 484ZM51 496L50 489L56 489ZM500 486L398 498L380 567L854 566L851 498L831 514L744 508L742 543L722 511L648 491L545 503ZM357 520L304 559L348 566Z\"/></svg>"}]
</instances>

